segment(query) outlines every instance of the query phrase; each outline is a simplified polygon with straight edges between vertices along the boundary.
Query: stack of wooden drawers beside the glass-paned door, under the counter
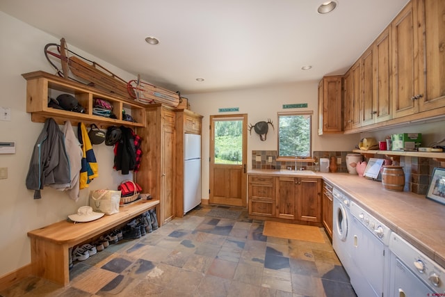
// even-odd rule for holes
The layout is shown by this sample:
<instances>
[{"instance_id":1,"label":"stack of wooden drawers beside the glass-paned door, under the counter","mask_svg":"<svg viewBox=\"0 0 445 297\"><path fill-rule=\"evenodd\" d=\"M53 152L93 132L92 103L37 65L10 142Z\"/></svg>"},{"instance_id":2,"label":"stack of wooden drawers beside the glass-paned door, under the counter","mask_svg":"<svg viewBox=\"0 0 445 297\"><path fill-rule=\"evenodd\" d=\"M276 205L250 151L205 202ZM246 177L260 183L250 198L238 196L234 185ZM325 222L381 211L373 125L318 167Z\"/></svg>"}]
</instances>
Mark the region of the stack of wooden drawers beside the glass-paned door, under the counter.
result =
<instances>
[{"instance_id":1,"label":"stack of wooden drawers beside the glass-paned door, under the counter","mask_svg":"<svg viewBox=\"0 0 445 297\"><path fill-rule=\"evenodd\" d=\"M249 215L275 217L275 177L249 175Z\"/></svg>"}]
</instances>

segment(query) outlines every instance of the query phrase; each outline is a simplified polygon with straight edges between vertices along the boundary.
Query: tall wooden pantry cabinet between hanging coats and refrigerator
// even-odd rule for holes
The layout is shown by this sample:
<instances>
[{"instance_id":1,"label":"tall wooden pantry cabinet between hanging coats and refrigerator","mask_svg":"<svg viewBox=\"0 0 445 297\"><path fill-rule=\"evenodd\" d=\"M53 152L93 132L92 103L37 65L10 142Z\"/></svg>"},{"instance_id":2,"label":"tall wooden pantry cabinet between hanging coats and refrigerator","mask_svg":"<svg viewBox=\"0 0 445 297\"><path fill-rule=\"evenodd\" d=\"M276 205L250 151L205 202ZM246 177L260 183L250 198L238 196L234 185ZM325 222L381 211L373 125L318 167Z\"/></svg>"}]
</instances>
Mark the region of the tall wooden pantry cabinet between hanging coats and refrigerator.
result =
<instances>
[{"instance_id":1,"label":"tall wooden pantry cabinet between hanging coats and refrigerator","mask_svg":"<svg viewBox=\"0 0 445 297\"><path fill-rule=\"evenodd\" d=\"M138 129L143 155L136 182L159 200L159 225L175 217L175 111L153 104L145 109L146 125Z\"/></svg>"}]
</instances>

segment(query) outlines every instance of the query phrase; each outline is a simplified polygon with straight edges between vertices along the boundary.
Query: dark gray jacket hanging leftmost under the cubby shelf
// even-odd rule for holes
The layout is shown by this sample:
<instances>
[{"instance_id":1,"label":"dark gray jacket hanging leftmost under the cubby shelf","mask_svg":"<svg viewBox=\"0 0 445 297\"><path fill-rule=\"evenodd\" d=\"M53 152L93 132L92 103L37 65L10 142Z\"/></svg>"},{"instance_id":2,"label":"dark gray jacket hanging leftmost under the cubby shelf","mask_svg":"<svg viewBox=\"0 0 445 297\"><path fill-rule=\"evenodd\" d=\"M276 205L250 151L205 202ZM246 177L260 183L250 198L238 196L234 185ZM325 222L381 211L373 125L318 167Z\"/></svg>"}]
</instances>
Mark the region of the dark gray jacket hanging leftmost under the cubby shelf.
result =
<instances>
[{"instance_id":1,"label":"dark gray jacket hanging leftmost under the cubby shelf","mask_svg":"<svg viewBox=\"0 0 445 297\"><path fill-rule=\"evenodd\" d=\"M44 122L26 175L26 188L35 190L34 199L42 198L40 190L50 184L70 185L70 162L65 151L63 132L53 118Z\"/></svg>"}]
</instances>

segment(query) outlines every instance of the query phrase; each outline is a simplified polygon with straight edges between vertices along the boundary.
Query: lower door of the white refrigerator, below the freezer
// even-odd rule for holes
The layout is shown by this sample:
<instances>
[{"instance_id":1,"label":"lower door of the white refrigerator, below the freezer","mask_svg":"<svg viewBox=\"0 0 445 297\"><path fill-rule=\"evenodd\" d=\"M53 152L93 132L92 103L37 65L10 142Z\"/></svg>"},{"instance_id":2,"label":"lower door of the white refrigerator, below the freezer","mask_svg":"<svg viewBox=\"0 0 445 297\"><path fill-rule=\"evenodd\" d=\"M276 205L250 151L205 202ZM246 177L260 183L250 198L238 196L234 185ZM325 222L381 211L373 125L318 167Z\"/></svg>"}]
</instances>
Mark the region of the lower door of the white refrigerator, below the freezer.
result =
<instances>
[{"instance_id":1,"label":"lower door of the white refrigerator, below the freezer","mask_svg":"<svg viewBox=\"0 0 445 297\"><path fill-rule=\"evenodd\" d=\"M184 214L201 203L201 159L184 161Z\"/></svg>"}]
</instances>

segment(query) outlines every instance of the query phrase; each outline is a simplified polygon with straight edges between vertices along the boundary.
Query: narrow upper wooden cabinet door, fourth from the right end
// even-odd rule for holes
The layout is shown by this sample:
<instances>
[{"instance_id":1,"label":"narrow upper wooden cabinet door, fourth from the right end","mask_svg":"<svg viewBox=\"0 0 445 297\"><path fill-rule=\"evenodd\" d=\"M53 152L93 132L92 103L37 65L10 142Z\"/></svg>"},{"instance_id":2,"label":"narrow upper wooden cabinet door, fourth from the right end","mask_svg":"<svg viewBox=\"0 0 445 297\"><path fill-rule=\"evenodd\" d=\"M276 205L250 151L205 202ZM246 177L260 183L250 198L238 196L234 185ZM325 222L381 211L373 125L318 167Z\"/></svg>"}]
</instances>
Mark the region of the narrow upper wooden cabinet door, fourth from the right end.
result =
<instances>
[{"instance_id":1,"label":"narrow upper wooden cabinet door, fourth from the right end","mask_svg":"<svg viewBox=\"0 0 445 297\"><path fill-rule=\"evenodd\" d=\"M360 58L360 89L362 92L361 98L361 122L362 127L371 125L374 123L375 115L377 111L373 110L374 107L374 94L373 94L373 49L369 47L367 51Z\"/></svg>"}]
</instances>

